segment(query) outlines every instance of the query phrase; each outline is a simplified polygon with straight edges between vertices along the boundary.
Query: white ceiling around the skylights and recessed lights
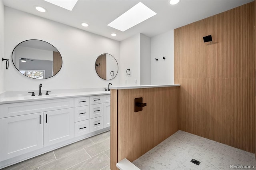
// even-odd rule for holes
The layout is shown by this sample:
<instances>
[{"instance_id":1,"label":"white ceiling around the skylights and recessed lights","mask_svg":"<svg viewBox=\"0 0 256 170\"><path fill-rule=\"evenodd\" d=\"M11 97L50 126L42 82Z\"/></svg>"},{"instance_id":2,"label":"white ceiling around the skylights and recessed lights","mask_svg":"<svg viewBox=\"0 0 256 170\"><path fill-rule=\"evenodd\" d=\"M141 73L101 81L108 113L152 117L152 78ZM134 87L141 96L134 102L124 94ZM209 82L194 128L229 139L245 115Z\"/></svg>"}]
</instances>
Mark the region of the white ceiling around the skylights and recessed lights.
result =
<instances>
[{"instance_id":1,"label":"white ceiling around the skylights and recessed lights","mask_svg":"<svg viewBox=\"0 0 256 170\"><path fill-rule=\"evenodd\" d=\"M5 6L10 8L122 41L138 33L153 37L253 0L181 0L174 6L168 4L168 0L78 0L72 11L44 0L2 1ZM142 2L157 14L124 32L107 26L138 2ZM47 12L38 12L34 6L42 6L46 8ZM81 26L82 22L86 22L90 26L83 27ZM112 33L118 35L112 37L110 35Z\"/></svg>"}]
</instances>

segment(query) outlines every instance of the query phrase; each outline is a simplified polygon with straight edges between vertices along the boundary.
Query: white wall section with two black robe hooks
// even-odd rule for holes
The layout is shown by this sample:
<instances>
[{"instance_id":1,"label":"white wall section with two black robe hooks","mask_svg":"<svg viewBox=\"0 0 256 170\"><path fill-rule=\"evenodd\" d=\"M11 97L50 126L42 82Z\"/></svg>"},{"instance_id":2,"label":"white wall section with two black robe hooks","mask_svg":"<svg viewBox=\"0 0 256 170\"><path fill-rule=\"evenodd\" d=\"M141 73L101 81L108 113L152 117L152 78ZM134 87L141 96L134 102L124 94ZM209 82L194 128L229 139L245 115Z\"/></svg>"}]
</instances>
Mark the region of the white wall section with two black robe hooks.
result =
<instances>
[{"instance_id":1,"label":"white wall section with two black robe hooks","mask_svg":"<svg viewBox=\"0 0 256 170\"><path fill-rule=\"evenodd\" d=\"M151 38L151 84L174 84L174 30Z\"/></svg>"}]
</instances>

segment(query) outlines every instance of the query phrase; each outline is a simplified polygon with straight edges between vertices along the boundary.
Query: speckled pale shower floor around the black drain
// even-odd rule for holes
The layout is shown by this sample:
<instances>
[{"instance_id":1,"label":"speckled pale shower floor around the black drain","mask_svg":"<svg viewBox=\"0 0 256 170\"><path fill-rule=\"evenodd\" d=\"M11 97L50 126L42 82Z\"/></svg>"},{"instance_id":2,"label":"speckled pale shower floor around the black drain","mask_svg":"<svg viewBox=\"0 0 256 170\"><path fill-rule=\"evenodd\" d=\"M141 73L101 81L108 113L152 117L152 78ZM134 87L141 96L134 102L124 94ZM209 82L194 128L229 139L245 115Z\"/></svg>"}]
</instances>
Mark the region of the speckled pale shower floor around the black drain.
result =
<instances>
[{"instance_id":1,"label":"speckled pale shower floor around the black drain","mask_svg":"<svg viewBox=\"0 0 256 170\"><path fill-rule=\"evenodd\" d=\"M192 158L200 165L190 162ZM229 170L230 165L256 169L254 154L182 130L132 163L141 170Z\"/></svg>"}]
</instances>

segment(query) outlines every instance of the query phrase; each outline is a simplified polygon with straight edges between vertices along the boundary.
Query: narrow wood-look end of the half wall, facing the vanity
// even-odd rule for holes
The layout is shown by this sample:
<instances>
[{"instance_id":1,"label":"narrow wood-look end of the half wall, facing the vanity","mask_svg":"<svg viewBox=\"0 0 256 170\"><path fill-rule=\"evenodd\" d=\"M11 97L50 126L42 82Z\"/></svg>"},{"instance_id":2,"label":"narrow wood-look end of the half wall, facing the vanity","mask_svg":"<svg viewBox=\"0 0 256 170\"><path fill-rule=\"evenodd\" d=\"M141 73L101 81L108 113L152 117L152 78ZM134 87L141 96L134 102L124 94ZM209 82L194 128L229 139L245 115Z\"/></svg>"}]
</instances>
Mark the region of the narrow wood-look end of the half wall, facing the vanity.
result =
<instances>
[{"instance_id":1,"label":"narrow wood-look end of the half wall, facing the vanity","mask_svg":"<svg viewBox=\"0 0 256 170\"><path fill-rule=\"evenodd\" d=\"M111 89L110 90L110 169L118 170L116 167L117 163L117 99L118 91Z\"/></svg>"}]
</instances>

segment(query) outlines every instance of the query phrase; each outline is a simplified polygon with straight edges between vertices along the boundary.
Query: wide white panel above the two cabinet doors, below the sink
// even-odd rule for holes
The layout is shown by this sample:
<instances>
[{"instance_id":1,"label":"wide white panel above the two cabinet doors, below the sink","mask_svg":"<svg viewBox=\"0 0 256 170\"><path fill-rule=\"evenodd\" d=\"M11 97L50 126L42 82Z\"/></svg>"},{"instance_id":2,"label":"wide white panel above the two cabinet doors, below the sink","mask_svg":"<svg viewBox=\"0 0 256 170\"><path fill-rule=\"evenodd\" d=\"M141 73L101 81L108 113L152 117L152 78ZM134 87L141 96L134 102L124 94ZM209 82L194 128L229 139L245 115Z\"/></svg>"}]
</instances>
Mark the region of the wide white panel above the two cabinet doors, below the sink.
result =
<instances>
[{"instance_id":1,"label":"wide white panel above the two cabinet doors, below the sink","mask_svg":"<svg viewBox=\"0 0 256 170\"><path fill-rule=\"evenodd\" d=\"M72 107L74 107L74 98L10 103L1 105L0 118L27 115L30 113L39 113Z\"/></svg>"}]
</instances>

